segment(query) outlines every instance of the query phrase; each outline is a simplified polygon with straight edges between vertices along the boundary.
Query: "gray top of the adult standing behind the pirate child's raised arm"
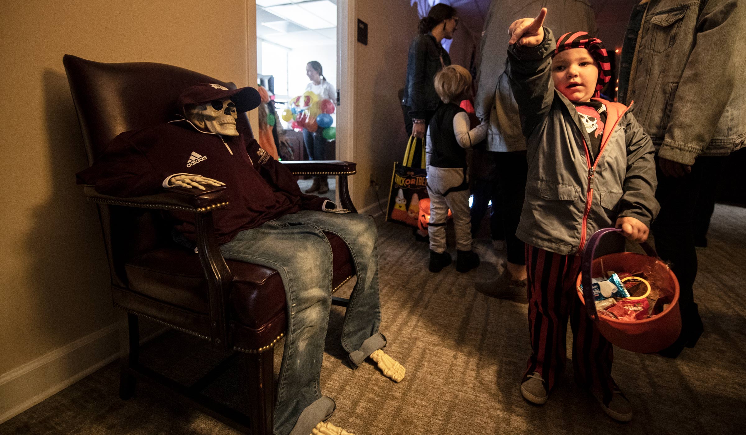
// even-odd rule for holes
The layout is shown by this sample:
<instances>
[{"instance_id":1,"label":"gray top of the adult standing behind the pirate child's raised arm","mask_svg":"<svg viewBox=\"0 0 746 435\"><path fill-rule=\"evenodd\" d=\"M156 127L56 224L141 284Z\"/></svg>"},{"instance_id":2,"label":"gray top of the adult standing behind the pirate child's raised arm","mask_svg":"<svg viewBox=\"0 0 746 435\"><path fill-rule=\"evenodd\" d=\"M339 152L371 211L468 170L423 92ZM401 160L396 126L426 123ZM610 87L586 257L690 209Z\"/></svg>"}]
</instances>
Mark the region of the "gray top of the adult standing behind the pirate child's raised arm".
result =
<instances>
[{"instance_id":1,"label":"gray top of the adult standing behind the pirate child's raised arm","mask_svg":"<svg viewBox=\"0 0 746 435\"><path fill-rule=\"evenodd\" d=\"M542 7L549 13L545 25L556 34L587 31L595 34L596 22L589 0L492 0L484 22L479 66L477 118L489 119L489 151L524 151L526 138L518 121L518 105L505 74L508 28L516 19L533 17Z\"/></svg>"}]
</instances>

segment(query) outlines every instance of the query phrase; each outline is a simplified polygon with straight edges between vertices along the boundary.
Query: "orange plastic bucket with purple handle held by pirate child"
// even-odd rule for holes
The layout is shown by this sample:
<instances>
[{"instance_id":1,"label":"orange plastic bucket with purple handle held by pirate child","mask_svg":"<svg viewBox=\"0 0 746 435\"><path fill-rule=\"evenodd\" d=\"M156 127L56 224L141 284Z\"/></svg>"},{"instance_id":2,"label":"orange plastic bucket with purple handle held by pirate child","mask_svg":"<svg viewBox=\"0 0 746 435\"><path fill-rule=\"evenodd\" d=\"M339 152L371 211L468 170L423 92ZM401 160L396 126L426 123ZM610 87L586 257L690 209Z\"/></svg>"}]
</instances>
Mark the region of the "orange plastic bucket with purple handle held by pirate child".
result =
<instances>
[{"instance_id":1,"label":"orange plastic bucket with purple handle held by pirate child","mask_svg":"<svg viewBox=\"0 0 746 435\"><path fill-rule=\"evenodd\" d=\"M672 345L681 333L679 281L674 272L671 272L671 269L659 260L656 252L647 243L641 243L647 255L618 252L594 259L595 248L599 240L609 232L621 232L621 230L604 228L596 231L583 251L581 272L577 277L577 295L586 306L588 316L598 325L598 330L613 345L641 354L661 351ZM641 270L646 270L656 276L656 284L670 300L665 310L648 319L635 321L599 316L593 298L591 279L605 277L608 271L627 272L634 275Z\"/></svg>"}]
</instances>

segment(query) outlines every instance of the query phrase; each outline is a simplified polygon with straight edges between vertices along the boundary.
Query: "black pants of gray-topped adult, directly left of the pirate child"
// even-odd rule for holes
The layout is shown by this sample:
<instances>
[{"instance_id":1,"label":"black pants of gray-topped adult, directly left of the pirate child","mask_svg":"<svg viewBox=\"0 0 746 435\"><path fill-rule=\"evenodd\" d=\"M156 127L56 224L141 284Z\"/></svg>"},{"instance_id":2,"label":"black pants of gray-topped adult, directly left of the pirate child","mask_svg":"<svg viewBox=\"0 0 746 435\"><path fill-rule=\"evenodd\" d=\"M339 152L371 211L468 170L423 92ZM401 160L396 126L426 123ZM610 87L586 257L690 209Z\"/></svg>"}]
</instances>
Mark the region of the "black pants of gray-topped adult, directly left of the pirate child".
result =
<instances>
[{"instance_id":1,"label":"black pants of gray-topped adult, directly left of the pirate child","mask_svg":"<svg viewBox=\"0 0 746 435\"><path fill-rule=\"evenodd\" d=\"M521 220L521 209L526 195L526 151L500 152L495 157L495 163L502 193L499 207L503 213L508 262L523 265L526 264L525 246L518 237L515 237L515 230L518 229L518 222Z\"/></svg>"}]
</instances>

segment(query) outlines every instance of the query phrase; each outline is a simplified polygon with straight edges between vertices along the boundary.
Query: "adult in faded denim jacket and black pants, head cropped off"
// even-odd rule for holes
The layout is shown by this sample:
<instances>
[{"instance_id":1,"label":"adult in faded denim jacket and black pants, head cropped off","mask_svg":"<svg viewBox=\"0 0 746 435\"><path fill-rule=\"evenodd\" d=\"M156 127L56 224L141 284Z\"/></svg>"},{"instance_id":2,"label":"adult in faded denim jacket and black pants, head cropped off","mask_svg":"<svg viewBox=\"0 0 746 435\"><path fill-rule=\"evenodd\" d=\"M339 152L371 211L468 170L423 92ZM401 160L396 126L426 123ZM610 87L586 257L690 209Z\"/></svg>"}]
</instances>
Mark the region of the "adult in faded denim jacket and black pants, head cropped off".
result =
<instances>
[{"instance_id":1,"label":"adult in faded denim jacket and black pants, head cropped off","mask_svg":"<svg viewBox=\"0 0 746 435\"><path fill-rule=\"evenodd\" d=\"M676 357L703 332L692 286L697 276L694 222L706 183L746 140L746 5L741 0L643 0L630 16L618 99L656 146L661 210L656 248L680 284L683 329L663 351Z\"/></svg>"}]
</instances>

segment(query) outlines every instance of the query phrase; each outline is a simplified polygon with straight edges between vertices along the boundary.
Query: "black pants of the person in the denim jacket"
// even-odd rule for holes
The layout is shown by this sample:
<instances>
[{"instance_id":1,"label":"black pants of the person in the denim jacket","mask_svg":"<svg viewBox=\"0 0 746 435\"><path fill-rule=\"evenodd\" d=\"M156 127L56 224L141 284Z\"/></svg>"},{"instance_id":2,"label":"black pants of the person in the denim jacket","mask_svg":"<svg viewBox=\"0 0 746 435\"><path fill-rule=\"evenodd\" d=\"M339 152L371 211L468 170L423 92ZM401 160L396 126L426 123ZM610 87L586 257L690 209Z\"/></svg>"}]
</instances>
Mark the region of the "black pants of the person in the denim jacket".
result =
<instances>
[{"instance_id":1,"label":"black pants of the person in the denim jacket","mask_svg":"<svg viewBox=\"0 0 746 435\"><path fill-rule=\"evenodd\" d=\"M680 345L690 336L698 337L703 331L693 289L698 266L695 250L696 207L700 201L712 203L714 207L714 186L709 181L718 178L726 158L699 157L692 165L692 173L674 178L662 174L656 157L656 199L660 204L660 213L653 221L651 230L659 256L671 262L671 270L679 281L682 321Z\"/></svg>"}]
</instances>

